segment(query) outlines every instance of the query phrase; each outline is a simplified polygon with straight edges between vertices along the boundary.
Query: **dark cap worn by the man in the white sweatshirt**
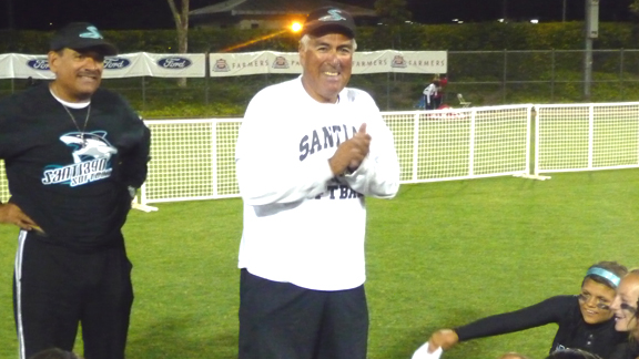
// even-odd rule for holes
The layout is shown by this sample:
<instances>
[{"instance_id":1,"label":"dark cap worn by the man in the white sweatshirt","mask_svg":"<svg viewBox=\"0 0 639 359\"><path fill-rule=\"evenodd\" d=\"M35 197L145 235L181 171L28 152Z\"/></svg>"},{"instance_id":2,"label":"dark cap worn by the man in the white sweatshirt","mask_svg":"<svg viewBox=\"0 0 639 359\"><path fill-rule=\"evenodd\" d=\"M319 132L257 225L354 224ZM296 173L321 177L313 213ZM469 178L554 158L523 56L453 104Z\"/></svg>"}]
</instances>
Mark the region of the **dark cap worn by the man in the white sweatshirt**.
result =
<instances>
[{"instance_id":1,"label":"dark cap worn by the man in the white sweatshirt","mask_svg":"<svg viewBox=\"0 0 639 359\"><path fill-rule=\"evenodd\" d=\"M322 35L331 32L343 33L353 39L355 38L355 20L345 10L324 7L313 10L302 29L302 34Z\"/></svg>"}]
</instances>

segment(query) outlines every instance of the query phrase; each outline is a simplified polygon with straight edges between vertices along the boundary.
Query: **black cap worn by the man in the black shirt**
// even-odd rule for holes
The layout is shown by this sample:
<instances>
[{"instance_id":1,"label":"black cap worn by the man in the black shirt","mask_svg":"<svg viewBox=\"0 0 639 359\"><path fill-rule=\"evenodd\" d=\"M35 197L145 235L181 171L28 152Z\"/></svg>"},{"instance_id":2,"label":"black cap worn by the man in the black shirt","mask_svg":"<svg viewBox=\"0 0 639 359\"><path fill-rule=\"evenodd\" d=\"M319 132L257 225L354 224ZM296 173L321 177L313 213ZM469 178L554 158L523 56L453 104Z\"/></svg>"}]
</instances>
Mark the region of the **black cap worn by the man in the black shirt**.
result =
<instances>
[{"instance_id":1,"label":"black cap worn by the man in the black shirt","mask_svg":"<svg viewBox=\"0 0 639 359\"><path fill-rule=\"evenodd\" d=\"M118 54L118 49L112 43L104 41L104 37L98 28L89 22L71 22L53 34L49 50L58 51L64 48L72 50L94 49L105 57Z\"/></svg>"}]
</instances>

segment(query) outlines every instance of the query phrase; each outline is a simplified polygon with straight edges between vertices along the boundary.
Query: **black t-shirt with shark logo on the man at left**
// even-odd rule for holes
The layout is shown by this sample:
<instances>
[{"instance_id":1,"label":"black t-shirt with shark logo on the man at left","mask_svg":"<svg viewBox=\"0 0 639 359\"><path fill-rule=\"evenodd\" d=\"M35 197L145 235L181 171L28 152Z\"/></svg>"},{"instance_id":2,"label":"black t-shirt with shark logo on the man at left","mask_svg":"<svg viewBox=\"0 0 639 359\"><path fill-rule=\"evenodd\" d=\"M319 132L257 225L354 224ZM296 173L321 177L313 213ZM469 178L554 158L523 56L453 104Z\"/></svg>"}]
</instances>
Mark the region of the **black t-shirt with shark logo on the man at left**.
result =
<instances>
[{"instance_id":1,"label":"black t-shirt with shark logo on the man at left","mask_svg":"<svg viewBox=\"0 0 639 359\"><path fill-rule=\"evenodd\" d=\"M88 109L69 111L75 122L45 84L0 101L10 201L47 233L41 240L79 249L118 245L131 207L128 187L146 177L149 129L102 89L88 119Z\"/></svg>"}]
</instances>

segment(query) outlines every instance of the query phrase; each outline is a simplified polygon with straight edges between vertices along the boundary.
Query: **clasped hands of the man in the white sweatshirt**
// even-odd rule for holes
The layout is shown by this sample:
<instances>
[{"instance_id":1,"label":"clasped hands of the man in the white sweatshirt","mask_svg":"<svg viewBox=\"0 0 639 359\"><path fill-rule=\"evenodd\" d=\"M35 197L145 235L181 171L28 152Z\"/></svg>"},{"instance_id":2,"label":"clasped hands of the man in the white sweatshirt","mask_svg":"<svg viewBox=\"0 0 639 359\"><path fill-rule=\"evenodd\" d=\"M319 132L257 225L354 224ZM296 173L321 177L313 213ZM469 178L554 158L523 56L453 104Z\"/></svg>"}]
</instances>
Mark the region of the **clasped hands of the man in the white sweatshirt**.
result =
<instances>
[{"instance_id":1,"label":"clasped hands of the man in the white sweatshirt","mask_svg":"<svg viewBox=\"0 0 639 359\"><path fill-rule=\"evenodd\" d=\"M346 170L355 171L362 164L362 161L368 155L371 147L371 135L366 133L366 124L359 126L359 131L348 141L343 142L328 164L333 174L342 175Z\"/></svg>"}]
</instances>

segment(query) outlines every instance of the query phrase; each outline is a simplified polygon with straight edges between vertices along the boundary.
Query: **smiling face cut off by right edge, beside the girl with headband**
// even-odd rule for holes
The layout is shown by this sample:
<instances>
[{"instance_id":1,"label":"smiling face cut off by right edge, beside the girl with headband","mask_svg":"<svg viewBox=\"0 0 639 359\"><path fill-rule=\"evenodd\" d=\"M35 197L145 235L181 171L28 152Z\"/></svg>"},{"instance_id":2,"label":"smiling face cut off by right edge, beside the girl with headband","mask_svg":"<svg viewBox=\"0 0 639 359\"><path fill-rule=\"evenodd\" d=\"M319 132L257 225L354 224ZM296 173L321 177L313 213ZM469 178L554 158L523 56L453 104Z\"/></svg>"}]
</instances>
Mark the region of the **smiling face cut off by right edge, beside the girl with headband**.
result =
<instances>
[{"instance_id":1,"label":"smiling face cut off by right edge, beside the girl with headband","mask_svg":"<svg viewBox=\"0 0 639 359\"><path fill-rule=\"evenodd\" d=\"M633 269L621 278L617 296L610 308L615 312L615 329L630 334L630 342L621 355L610 359L639 358L639 326L637 325L639 305L639 269Z\"/></svg>"}]
</instances>

